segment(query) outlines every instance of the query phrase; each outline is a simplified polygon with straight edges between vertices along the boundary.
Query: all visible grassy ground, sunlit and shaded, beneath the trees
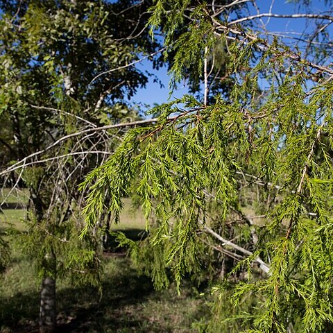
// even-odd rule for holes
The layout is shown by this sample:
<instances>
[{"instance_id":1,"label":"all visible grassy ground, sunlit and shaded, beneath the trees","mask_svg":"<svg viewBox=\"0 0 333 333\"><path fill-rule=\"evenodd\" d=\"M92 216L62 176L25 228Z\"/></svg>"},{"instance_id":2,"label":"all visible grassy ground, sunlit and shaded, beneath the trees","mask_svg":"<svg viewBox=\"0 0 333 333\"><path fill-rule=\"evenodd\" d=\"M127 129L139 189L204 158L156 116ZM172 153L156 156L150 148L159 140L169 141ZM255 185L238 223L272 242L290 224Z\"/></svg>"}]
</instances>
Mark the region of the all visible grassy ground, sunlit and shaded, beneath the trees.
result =
<instances>
[{"instance_id":1,"label":"all visible grassy ground, sunlit and shaded, beneath the trees","mask_svg":"<svg viewBox=\"0 0 333 333\"><path fill-rule=\"evenodd\" d=\"M12 203L15 203L12 200ZM24 210L0 214L0 232L10 242L12 257L0 277L0 332L37 332L39 286L33 261L22 252ZM121 224L114 230L139 232L145 222L126 201ZM175 288L154 291L151 281L119 254L103 258L103 295L92 287L58 282L59 332L196 332L194 324L207 314L203 298L191 287L178 296Z\"/></svg>"}]
</instances>

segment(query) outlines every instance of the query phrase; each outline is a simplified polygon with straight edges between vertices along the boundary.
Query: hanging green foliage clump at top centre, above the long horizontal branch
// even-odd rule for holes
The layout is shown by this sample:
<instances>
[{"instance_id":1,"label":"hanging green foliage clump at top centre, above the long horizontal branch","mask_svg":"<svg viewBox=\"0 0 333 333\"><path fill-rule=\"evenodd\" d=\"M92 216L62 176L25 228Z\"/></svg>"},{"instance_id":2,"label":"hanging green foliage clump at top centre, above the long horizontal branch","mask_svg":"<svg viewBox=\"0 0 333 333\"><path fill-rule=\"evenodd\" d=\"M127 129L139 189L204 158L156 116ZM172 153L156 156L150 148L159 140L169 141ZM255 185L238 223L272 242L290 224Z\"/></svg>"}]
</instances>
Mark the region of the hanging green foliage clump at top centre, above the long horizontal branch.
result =
<instances>
[{"instance_id":1,"label":"hanging green foliage clump at top centre, above the long horizontal branch","mask_svg":"<svg viewBox=\"0 0 333 333\"><path fill-rule=\"evenodd\" d=\"M216 1L216 6L225 6L232 1ZM210 4L210 6L212 6ZM232 13L239 17L240 10L244 6L234 3ZM191 10L188 10L191 8ZM164 60L167 61L169 72L172 73L169 83L171 91L177 84L185 82L189 91L195 96L200 90L203 78L203 58L205 46L210 45L210 53L207 57L210 63L212 75L208 77L210 90L213 94L225 94L230 89L233 80L217 79L225 76L228 52L226 52L225 40L214 39L214 31L210 20L202 19L205 6L196 1L155 1L151 8L151 17L148 26L151 35L157 29L164 35Z\"/></svg>"}]
</instances>

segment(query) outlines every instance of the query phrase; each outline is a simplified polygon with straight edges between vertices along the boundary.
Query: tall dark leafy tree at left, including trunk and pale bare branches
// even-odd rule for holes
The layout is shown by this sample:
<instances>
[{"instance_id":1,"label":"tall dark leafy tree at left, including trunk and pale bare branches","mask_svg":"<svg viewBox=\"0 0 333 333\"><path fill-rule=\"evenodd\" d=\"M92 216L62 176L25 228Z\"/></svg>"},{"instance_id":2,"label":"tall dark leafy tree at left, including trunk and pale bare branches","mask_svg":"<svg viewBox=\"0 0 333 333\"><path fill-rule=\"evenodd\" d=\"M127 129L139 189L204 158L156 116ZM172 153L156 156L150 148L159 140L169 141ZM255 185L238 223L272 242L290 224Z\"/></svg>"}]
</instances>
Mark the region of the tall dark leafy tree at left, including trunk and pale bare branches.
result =
<instances>
[{"instance_id":1,"label":"tall dark leafy tree at left, including trunk and pale bare branches","mask_svg":"<svg viewBox=\"0 0 333 333\"><path fill-rule=\"evenodd\" d=\"M1 184L28 188L26 247L41 278L40 330L51 332L56 278L99 285L99 235L78 239L85 194L77 187L112 151L117 128L126 130L117 123L139 118L124 100L147 76L130 63L158 44L148 38L145 2L1 1L0 8Z\"/></svg>"}]
</instances>

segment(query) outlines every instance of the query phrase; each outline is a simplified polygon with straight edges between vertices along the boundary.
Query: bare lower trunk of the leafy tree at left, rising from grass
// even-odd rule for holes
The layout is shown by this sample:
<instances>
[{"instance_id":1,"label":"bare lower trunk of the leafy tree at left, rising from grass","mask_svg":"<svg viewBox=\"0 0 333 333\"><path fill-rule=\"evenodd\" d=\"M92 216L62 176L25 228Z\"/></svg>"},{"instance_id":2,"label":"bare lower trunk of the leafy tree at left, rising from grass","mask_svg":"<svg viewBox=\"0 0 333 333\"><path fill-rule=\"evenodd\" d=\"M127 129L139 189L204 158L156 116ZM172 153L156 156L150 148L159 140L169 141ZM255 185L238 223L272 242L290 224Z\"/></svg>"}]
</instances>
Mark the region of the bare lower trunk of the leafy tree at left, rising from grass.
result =
<instances>
[{"instance_id":1,"label":"bare lower trunk of the leafy tree at left, rising from grass","mask_svg":"<svg viewBox=\"0 0 333 333\"><path fill-rule=\"evenodd\" d=\"M53 266L55 273L56 257L49 255L46 261L49 264L48 268ZM56 316L56 275L45 275L40 290L40 333L56 332Z\"/></svg>"}]
</instances>

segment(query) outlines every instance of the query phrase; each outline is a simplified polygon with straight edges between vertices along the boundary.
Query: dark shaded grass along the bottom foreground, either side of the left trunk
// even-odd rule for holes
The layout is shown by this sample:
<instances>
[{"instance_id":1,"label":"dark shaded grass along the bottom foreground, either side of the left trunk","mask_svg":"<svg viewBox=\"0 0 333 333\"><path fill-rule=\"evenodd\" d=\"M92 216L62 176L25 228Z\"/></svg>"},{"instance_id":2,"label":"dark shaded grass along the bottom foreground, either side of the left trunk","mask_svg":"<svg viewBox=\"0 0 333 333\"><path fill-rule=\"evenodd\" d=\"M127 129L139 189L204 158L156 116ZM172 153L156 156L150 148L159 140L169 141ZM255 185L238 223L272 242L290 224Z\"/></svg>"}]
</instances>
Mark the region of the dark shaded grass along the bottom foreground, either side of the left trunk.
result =
<instances>
[{"instance_id":1,"label":"dark shaded grass along the bottom foreground, either side of the left trunk","mask_svg":"<svg viewBox=\"0 0 333 333\"><path fill-rule=\"evenodd\" d=\"M194 332L203 300L174 289L154 291L128 258L108 255L105 261L103 296L89 287L58 289L58 332ZM37 332L37 305L37 286L2 296L0 332Z\"/></svg>"}]
</instances>

